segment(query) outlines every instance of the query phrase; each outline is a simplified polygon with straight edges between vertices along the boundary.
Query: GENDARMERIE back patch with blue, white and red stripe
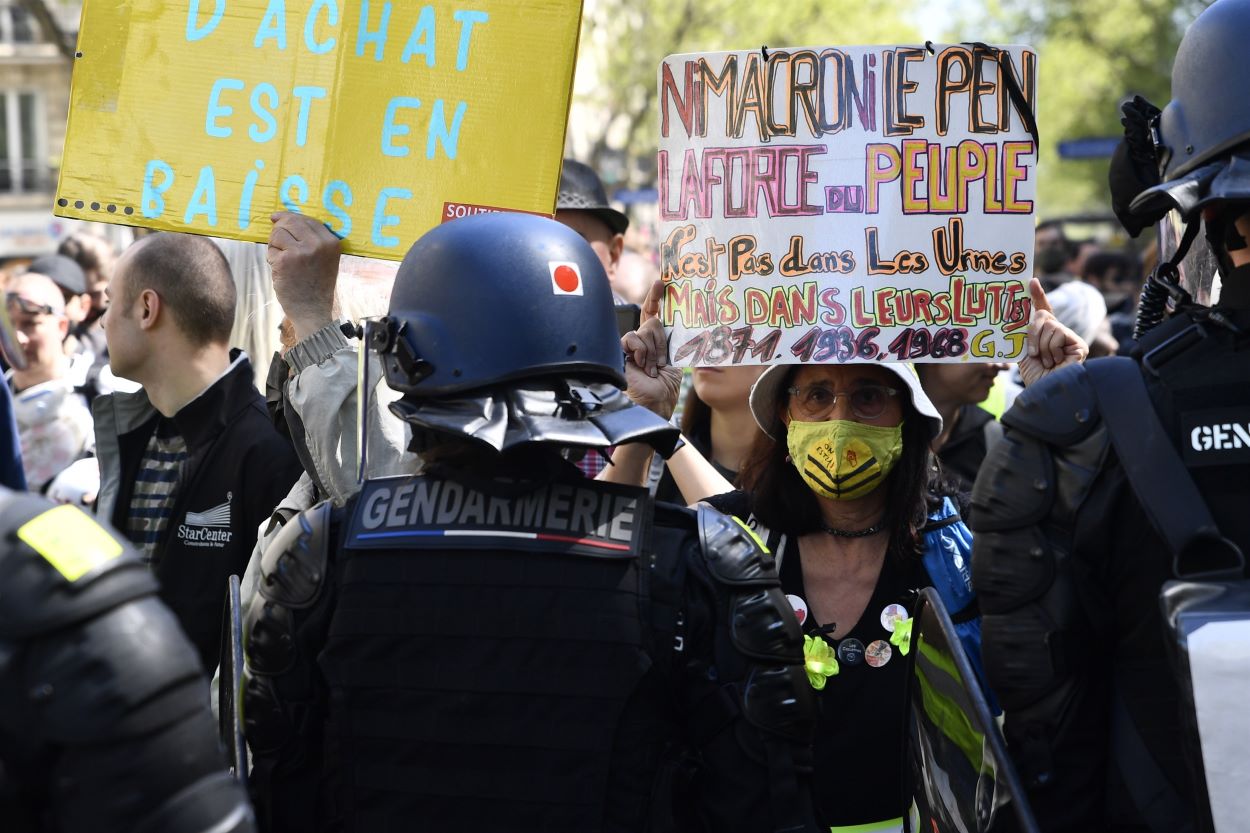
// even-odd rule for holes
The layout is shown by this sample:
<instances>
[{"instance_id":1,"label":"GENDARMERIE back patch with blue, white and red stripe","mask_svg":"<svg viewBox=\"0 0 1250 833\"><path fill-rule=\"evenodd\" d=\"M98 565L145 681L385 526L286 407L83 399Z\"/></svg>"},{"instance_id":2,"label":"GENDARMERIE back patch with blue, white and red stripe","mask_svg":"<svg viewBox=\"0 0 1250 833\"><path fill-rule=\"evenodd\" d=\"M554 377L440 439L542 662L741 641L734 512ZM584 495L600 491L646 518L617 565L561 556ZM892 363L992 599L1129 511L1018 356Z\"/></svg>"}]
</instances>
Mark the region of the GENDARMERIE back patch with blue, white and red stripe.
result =
<instances>
[{"instance_id":1,"label":"GENDARMERIE back patch with blue, white and red stripe","mask_svg":"<svg viewBox=\"0 0 1250 833\"><path fill-rule=\"evenodd\" d=\"M352 549L531 549L599 558L641 553L645 489L551 482L519 495L488 494L431 477L365 483L351 514Z\"/></svg>"}]
</instances>

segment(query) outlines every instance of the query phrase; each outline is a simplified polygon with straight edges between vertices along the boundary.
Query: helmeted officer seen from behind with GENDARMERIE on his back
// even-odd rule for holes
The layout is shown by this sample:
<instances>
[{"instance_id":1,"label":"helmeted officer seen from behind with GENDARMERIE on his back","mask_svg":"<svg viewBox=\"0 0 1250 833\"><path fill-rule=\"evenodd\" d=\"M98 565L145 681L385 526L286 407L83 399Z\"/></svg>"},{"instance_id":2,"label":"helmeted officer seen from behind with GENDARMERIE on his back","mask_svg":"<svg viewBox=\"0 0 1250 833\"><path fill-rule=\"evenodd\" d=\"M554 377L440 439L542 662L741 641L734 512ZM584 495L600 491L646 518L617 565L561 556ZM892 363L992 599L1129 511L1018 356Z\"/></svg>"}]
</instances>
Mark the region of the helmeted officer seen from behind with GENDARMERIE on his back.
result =
<instances>
[{"instance_id":1,"label":"helmeted officer seen from behind with GENDARMERIE on his back","mask_svg":"<svg viewBox=\"0 0 1250 833\"><path fill-rule=\"evenodd\" d=\"M771 557L561 455L676 443L622 390L594 250L529 215L441 225L364 343L422 463L264 554L244 695L261 825L815 829Z\"/></svg>"}]
</instances>

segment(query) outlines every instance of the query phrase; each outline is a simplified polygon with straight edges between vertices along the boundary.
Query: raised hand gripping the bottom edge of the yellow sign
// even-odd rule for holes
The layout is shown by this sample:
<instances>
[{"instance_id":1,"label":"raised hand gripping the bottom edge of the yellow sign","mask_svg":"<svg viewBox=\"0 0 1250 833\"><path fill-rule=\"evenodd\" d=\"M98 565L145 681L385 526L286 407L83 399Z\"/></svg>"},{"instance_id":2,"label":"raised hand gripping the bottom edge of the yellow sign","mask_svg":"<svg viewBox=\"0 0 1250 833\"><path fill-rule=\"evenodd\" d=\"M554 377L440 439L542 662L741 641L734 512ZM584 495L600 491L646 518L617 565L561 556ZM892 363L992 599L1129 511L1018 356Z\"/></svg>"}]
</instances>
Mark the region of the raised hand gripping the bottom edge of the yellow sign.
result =
<instances>
[{"instance_id":1,"label":"raised hand gripping the bottom edge of the yellow sign","mask_svg":"<svg viewBox=\"0 0 1250 833\"><path fill-rule=\"evenodd\" d=\"M334 320L341 243L324 223L302 214L280 211L270 220L265 259L274 273L274 295L302 340Z\"/></svg>"}]
</instances>

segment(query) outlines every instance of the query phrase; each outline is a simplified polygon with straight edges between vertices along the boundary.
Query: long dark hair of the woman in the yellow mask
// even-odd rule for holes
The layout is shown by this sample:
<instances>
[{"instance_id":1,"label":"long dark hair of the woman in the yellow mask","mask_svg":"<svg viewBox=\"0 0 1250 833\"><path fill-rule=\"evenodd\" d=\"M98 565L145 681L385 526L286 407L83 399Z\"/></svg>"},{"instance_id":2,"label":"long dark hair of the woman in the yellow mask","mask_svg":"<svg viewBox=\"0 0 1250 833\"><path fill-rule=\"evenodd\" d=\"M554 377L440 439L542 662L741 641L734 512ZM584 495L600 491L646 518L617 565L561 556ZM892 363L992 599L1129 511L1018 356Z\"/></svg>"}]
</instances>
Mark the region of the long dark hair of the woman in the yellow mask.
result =
<instances>
[{"instance_id":1,"label":"long dark hair of the woman in the yellow mask","mask_svg":"<svg viewBox=\"0 0 1250 833\"><path fill-rule=\"evenodd\" d=\"M781 390L789 385L789 379ZM824 525L820 503L794 464L786 462L785 425L778 424L778 439L762 432L751 447L738 480L750 495L751 514L770 529L790 535L818 532ZM929 422L908 399L902 410L902 454L882 487L885 524L890 533L889 554L899 558L920 552L920 530L929 518L931 492L938 473L929 452Z\"/></svg>"}]
</instances>

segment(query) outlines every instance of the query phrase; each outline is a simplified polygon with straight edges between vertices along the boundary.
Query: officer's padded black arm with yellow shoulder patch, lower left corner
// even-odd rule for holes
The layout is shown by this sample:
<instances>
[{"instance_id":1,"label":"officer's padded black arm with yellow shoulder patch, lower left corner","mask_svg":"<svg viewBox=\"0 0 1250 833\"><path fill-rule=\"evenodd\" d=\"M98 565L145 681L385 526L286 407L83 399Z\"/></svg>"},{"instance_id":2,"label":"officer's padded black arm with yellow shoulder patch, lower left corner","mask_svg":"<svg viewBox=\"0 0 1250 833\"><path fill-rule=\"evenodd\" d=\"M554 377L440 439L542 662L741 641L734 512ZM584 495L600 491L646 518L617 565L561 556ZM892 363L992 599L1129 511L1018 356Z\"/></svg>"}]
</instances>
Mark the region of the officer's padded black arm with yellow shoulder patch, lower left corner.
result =
<instances>
[{"instance_id":1,"label":"officer's padded black arm with yellow shoulder patch, lower left corner","mask_svg":"<svg viewBox=\"0 0 1250 833\"><path fill-rule=\"evenodd\" d=\"M191 643L124 538L0 494L0 827L250 833Z\"/></svg>"}]
</instances>

